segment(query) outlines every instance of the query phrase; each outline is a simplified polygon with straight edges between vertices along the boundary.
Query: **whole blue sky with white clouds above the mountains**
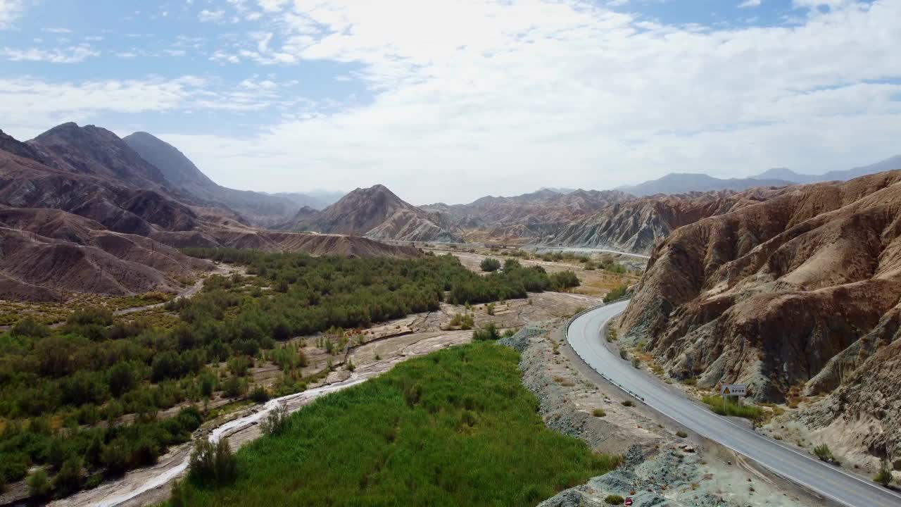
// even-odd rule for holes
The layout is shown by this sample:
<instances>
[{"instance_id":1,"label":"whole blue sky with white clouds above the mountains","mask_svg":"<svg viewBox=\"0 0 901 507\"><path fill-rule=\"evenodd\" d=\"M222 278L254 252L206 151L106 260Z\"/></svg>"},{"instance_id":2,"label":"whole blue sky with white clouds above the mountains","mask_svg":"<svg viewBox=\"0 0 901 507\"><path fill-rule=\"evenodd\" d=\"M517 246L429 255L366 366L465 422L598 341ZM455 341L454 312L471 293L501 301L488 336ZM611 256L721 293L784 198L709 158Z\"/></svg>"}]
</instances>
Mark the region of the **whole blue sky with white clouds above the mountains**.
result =
<instances>
[{"instance_id":1,"label":"whole blue sky with white clouds above the mountains","mask_svg":"<svg viewBox=\"0 0 901 507\"><path fill-rule=\"evenodd\" d=\"M901 0L0 0L0 129L414 204L901 152Z\"/></svg>"}]
</instances>

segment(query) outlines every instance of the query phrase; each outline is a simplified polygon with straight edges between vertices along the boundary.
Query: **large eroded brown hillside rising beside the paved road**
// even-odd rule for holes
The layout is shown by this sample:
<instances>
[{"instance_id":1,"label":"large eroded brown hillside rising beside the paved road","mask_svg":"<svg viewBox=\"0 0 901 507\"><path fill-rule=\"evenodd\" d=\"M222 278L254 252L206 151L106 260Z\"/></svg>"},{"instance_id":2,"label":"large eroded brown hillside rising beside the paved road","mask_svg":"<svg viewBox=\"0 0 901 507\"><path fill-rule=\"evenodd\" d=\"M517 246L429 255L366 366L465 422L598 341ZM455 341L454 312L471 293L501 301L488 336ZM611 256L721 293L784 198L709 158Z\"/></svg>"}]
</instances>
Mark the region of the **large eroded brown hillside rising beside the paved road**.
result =
<instances>
[{"instance_id":1,"label":"large eroded brown hillside rising beside the paved road","mask_svg":"<svg viewBox=\"0 0 901 507\"><path fill-rule=\"evenodd\" d=\"M889 171L682 226L654 247L619 336L703 387L826 394L805 417L898 456L901 418L886 408L901 404L899 217L901 171Z\"/></svg>"}]
</instances>

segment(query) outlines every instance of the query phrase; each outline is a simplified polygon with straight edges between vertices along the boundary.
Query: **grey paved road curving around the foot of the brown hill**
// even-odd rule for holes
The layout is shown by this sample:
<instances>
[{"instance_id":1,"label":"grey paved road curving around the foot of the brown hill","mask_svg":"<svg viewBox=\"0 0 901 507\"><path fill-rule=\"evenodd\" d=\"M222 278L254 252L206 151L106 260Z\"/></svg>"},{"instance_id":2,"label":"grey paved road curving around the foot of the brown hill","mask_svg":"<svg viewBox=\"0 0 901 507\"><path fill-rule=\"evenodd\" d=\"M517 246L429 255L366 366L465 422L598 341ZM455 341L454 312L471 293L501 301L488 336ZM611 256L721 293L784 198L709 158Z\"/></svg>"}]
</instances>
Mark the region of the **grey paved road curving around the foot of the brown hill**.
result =
<instances>
[{"instance_id":1,"label":"grey paved road curving around the foot of the brown hill","mask_svg":"<svg viewBox=\"0 0 901 507\"><path fill-rule=\"evenodd\" d=\"M650 373L633 368L628 361L614 354L601 338L600 329L610 318L621 313L627 304L628 301L621 301L589 310L569 326L569 345L597 373L643 399L651 409L675 419L697 434L748 456L774 473L835 502L852 507L901 506L901 495L717 416L695 401L688 400L677 389L660 383Z\"/></svg>"}]
</instances>

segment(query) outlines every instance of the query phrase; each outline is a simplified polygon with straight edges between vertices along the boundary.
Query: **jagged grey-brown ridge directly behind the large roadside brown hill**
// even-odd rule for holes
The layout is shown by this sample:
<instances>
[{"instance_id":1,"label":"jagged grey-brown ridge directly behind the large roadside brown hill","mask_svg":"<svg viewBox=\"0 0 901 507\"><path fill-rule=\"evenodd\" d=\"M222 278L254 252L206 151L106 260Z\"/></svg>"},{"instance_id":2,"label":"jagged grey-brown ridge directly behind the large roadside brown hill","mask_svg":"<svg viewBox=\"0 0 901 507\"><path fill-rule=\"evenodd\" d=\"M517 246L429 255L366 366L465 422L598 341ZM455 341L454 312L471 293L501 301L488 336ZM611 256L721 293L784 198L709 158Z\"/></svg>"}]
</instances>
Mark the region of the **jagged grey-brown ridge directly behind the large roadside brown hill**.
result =
<instances>
[{"instance_id":1,"label":"jagged grey-brown ridge directly behind the large roadside brown hill","mask_svg":"<svg viewBox=\"0 0 901 507\"><path fill-rule=\"evenodd\" d=\"M721 190L624 200L560 228L543 243L650 253L654 244L678 227L762 202L774 191L751 189L738 194Z\"/></svg>"}]
</instances>

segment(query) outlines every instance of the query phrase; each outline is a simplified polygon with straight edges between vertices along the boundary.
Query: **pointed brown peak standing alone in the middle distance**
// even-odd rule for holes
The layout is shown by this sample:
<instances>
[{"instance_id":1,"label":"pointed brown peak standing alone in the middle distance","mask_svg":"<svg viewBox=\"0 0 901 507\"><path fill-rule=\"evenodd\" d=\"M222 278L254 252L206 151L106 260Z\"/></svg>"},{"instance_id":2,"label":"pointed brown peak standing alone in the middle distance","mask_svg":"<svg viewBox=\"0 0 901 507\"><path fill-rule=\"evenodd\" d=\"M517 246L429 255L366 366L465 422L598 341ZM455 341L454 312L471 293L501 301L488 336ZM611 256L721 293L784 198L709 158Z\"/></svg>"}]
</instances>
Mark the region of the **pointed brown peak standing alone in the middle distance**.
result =
<instances>
[{"instance_id":1,"label":"pointed brown peak standing alone in the middle distance","mask_svg":"<svg viewBox=\"0 0 901 507\"><path fill-rule=\"evenodd\" d=\"M385 186L376 185L355 189L323 211L307 211L284 227L377 240L460 242L460 236L441 220L440 214L414 207Z\"/></svg>"}]
</instances>

